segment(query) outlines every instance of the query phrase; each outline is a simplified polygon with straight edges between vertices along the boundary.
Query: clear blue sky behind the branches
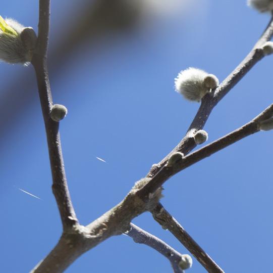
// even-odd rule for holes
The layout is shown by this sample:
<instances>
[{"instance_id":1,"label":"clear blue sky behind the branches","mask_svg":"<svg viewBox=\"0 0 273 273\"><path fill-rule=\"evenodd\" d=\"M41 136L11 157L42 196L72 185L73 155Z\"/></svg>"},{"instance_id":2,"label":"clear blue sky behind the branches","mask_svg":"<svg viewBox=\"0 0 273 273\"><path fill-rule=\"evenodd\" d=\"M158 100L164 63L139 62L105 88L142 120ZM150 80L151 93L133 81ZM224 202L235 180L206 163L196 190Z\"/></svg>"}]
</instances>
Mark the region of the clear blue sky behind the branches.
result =
<instances>
[{"instance_id":1,"label":"clear blue sky behind the branches","mask_svg":"<svg viewBox=\"0 0 273 273\"><path fill-rule=\"evenodd\" d=\"M52 1L49 47L83 2ZM69 112L60 129L70 193L82 224L120 202L182 139L199 104L174 92L178 72L194 66L222 81L269 21L269 15L249 9L245 1L194 3L186 13L157 17L134 32L107 36L96 47L88 41L70 56L62 73L49 71L54 102ZM1 15L37 30L38 0L4 2ZM216 106L204 127L209 142L272 103L272 62L273 57L264 58ZM22 70L35 80L31 66L0 64L0 100ZM36 84L32 86L27 109L9 121L8 129L1 128L2 272L28 272L62 232ZM13 111L0 109L0 119L9 119ZM162 204L226 272L272 268L272 137L273 131L249 136L165 184ZM149 213L133 222L188 253ZM171 267L153 249L119 236L81 256L66 272L165 273ZM188 272L205 270L194 259Z\"/></svg>"}]
</instances>

